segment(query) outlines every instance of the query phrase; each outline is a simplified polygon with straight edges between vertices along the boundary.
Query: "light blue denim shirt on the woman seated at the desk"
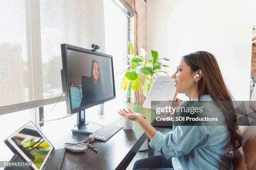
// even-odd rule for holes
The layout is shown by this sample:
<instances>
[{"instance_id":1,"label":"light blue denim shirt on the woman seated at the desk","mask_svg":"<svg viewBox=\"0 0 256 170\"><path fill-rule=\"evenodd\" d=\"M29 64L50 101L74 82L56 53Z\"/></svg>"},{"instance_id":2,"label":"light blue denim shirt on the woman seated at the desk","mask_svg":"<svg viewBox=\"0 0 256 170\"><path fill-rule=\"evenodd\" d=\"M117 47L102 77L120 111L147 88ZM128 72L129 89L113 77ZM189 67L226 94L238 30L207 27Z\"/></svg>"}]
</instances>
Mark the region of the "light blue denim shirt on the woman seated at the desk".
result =
<instances>
[{"instance_id":1,"label":"light blue denim shirt on the woman seated at the desk","mask_svg":"<svg viewBox=\"0 0 256 170\"><path fill-rule=\"evenodd\" d=\"M204 95L201 101L212 98ZM214 104L205 112L223 115ZM174 170L233 170L234 147L226 126L176 126L175 121L173 124L172 131L167 135L158 131L149 145L167 159L172 158Z\"/></svg>"}]
</instances>

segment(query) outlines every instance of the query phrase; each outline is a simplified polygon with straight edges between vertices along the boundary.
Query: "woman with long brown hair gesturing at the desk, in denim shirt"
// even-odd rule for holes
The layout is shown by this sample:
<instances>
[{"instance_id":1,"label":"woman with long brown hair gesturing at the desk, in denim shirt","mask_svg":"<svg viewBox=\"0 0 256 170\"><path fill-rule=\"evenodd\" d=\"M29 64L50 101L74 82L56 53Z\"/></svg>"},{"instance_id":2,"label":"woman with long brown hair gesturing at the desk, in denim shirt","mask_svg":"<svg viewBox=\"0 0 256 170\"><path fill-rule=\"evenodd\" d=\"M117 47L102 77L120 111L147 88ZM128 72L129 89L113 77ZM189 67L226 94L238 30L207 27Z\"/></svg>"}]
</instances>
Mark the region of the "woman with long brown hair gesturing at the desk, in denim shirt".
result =
<instances>
[{"instance_id":1,"label":"woman with long brown hair gesturing at the desk, in denim shirt","mask_svg":"<svg viewBox=\"0 0 256 170\"><path fill-rule=\"evenodd\" d=\"M205 51L198 51L182 57L176 72L172 75L177 93L189 96L190 101L213 101L211 109L205 115L223 115L233 109L232 105L221 101L232 101L215 57ZM179 105L179 99L172 103ZM227 109L228 108L228 109ZM151 140L151 148L158 150L161 156L136 161L133 169L164 168L164 170L232 170L232 160L237 148L241 146L242 136L236 125L222 126L180 126L173 122L173 129L163 135L151 126L142 115L132 110L120 110L121 116L134 120ZM175 115L175 114L174 114Z\"/></svg>"}]
</instances>

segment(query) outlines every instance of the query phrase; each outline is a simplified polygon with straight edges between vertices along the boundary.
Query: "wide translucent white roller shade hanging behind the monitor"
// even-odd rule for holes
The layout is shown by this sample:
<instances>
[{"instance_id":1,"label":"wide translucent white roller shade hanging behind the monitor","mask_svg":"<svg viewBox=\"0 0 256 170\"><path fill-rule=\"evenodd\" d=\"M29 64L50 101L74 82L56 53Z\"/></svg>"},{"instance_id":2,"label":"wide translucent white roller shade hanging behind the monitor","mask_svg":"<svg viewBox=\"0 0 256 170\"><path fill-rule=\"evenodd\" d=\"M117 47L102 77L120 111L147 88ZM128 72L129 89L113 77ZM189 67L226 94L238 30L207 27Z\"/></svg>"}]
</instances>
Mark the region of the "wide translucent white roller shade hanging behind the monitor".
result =
<instances>
[{"instance_id":1,"label":"wide translucent white roller shade hanging behind the monitor","mask_svg":"<svg viewBox=\"0 0 256 170\"><path fill-rule=\"evenodd\" d=\"M2 0L0 21L0 106L5 111L23 102L35 101L30 108L56 102L49 98L62 93L60 44L97 44L105 52L103 0Z\"/></svg>"}]
</instances>

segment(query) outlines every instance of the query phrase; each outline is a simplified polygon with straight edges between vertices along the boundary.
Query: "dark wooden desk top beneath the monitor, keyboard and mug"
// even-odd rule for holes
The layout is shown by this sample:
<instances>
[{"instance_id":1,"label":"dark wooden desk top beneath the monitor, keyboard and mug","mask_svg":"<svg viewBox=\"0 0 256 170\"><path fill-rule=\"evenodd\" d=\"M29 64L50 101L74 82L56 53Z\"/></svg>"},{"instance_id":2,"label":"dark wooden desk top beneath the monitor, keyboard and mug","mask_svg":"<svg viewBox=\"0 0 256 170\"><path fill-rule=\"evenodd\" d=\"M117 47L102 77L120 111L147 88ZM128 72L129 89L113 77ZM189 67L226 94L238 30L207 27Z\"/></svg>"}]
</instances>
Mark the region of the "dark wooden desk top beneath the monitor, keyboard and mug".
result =
<instances>
[{"instance_id":1,"label":"dark wooden desk top beneath the monitor, keyboard and mug","mask_svg":"<svg viewBox=\"0 0 256 170\"><path fill-rule=\"evenodd\" d=\"M105 114L87 112L86 119L105 125L120 117L117 110L130 108L135 112L142 113L146 120L151 122L151 112L138 103L122 103L120 105L106 105ZM111 113L111 114L110 114ZM46 122L40 128L42 133L54 145L56 149L64 148L64 143L77 143L89 138L88 135L73 133L76 115L59 121ZM135 122L133 130L120 130L107 142L96 140L92 145L97 148L95 153L90 148L86 153L71 153L66 151L61 169L63 170L125 170L139 148L146 140L146 134Z\"/></svg>"}]
</instances>

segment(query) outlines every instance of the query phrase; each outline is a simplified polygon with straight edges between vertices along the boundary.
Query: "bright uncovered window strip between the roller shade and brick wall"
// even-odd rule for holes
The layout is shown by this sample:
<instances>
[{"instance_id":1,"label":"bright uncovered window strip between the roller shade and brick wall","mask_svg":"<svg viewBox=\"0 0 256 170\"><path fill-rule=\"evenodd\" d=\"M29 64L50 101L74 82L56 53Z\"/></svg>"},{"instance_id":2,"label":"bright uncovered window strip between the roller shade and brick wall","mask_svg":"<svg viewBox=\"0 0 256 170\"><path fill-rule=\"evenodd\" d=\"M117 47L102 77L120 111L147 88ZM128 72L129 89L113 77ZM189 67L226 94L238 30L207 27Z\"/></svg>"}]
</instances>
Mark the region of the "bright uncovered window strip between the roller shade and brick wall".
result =
<instances>
[{"instance_id":1,"label":"bright uncovered window strip between the roller shade and brick wall","mask_svg":"<svg viewBox=\"0 0 256 170\"><path fill-rule=\"evenodd\" d=\"M128 17L112 0L104 0L106 53L113 55L116 97L123 100L124 90L120 89L127 65Z\"/></svg>"}]
</instances>

